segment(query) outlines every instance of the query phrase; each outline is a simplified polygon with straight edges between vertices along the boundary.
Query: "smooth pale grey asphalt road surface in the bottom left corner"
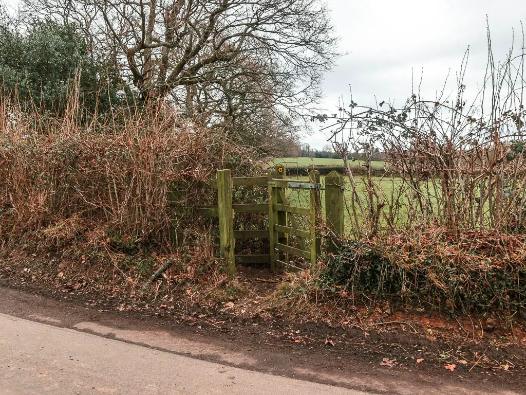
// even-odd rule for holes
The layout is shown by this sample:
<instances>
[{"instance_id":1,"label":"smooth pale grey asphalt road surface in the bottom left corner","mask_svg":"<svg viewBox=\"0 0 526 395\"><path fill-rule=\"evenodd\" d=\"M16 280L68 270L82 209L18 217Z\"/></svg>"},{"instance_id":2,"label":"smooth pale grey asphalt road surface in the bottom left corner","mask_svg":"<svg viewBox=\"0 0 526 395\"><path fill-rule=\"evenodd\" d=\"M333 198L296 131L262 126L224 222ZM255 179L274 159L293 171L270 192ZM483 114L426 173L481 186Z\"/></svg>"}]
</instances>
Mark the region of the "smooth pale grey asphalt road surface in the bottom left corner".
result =
<instances>
[{"instance_id":1,"label":"smooth pale grey asphalt road surface in the bottom left corner","mask_svg":"<svg viewBox=\"0 0 526 395\"><path fill-rule=\"evenodd\" d=\"M366 395L0 314L0 395Z\"/></svg>"}]
</instances>

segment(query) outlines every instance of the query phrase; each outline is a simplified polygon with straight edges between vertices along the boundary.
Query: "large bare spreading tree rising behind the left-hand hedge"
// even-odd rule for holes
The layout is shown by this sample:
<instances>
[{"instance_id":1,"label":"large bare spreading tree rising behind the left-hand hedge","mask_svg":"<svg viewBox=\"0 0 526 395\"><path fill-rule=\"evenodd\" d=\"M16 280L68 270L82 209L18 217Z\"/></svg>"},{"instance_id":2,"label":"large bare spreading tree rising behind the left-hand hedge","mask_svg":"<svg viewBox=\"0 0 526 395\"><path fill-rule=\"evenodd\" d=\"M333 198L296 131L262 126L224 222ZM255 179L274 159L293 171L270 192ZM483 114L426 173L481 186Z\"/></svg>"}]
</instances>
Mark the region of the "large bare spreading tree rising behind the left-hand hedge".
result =
<instances>
[{"instance_id":1,"label":"large bare spreading tree rising behind the left-hand hedge","mask_svg":"<svg viewBox=\"0 0 526 395\"><path fill-rule=\"evenodd\" d=\"M337 56L319 0L24 1L83 28L143 100L169 98L234 130L280 123L293 133Z\"/></svg>"}]
</instances>

